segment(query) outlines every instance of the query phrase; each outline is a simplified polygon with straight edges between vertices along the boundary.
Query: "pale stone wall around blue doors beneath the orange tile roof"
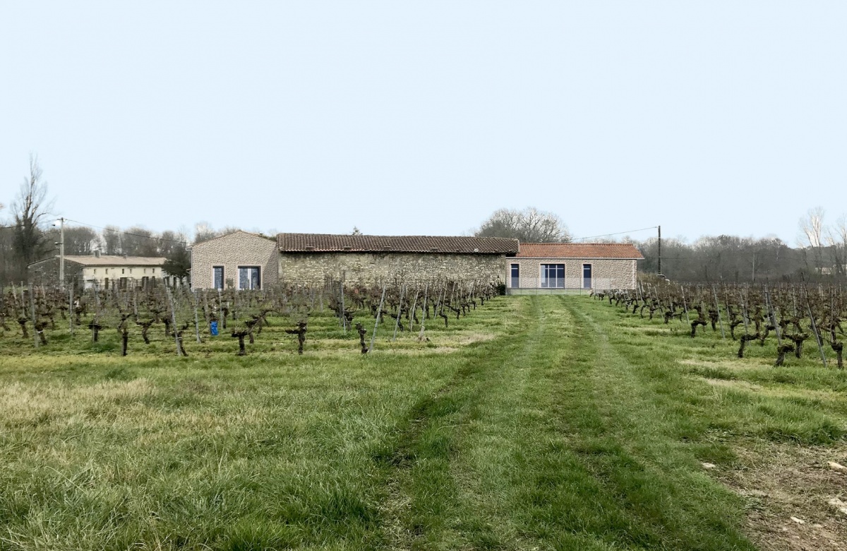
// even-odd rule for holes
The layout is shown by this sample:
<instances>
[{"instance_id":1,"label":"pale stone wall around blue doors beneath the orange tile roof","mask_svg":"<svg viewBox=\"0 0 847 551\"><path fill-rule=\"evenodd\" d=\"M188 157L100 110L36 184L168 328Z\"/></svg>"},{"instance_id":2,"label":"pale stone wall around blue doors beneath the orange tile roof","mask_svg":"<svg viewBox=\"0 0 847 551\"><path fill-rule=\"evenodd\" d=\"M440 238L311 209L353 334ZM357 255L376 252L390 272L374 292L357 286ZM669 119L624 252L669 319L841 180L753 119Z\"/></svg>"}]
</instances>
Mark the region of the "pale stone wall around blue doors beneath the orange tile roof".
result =
<instances>
[{"instance_id":1,"label":"pale stone wall around blue doors beneath the orange tile roof","mask_svg":"<svg viewBox=\"0 0 847 551\"><path fill-rule=\"evenodd\" d=\"M512 287L512 264L520 265L520 288L541 287L541 264L565 265L565 289L583 288L583 264L591 264L593 289L635 289L637 261L628 259L591 258L507 258L507 287Z\"/></svg>"}]
</instances>

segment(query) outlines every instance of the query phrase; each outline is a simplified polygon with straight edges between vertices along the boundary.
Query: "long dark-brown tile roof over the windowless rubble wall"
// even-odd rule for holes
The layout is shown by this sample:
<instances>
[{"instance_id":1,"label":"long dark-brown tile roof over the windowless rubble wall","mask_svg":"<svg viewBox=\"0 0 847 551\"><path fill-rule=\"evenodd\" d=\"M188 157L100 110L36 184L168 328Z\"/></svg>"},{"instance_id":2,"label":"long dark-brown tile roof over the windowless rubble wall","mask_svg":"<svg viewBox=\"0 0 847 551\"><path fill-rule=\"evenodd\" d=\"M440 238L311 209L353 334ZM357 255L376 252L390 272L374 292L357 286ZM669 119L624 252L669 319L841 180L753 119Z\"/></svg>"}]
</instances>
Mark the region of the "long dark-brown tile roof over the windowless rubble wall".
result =
<instances>
[{"instance_id":1,"label":"long dark-brown tile roof over the windowless rubble wall","mask_svg":"<svg viewBox=\"0 0 847 551\"><path fill-rule=\"evenodd\" d=\"M518 240L503 237L279 234L276 243L280 252L475 252L488 255L518 252Z\"/></svg>"}]
</instances>

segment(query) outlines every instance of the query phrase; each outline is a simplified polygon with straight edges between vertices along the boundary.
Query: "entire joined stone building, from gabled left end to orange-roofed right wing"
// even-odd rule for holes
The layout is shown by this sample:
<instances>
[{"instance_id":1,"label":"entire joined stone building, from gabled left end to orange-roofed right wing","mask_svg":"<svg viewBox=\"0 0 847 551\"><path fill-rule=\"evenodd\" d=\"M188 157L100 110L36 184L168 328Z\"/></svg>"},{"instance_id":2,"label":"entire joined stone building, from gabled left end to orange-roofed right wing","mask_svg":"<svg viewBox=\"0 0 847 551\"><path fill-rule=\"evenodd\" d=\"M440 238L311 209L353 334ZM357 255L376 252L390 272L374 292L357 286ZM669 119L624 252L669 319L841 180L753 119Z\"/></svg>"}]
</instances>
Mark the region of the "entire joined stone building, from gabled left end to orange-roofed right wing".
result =
<instances>
[{"instance_id":1,"label":"entire joined stone building, from gabled left end to orange-roofed right wing","mask_svg":"<svg viewBox=\"0 0 847 551\"><path fill-rule=\"evenodd\" d=\"M191 247L195 289L261 289L277 282L372 284L435 278L507 284L511 293L634 289L628 244L523 243L500 237L278 234L238 231ZM530 291L532 289L532 291Z\"/></svg>"}]
</instances>

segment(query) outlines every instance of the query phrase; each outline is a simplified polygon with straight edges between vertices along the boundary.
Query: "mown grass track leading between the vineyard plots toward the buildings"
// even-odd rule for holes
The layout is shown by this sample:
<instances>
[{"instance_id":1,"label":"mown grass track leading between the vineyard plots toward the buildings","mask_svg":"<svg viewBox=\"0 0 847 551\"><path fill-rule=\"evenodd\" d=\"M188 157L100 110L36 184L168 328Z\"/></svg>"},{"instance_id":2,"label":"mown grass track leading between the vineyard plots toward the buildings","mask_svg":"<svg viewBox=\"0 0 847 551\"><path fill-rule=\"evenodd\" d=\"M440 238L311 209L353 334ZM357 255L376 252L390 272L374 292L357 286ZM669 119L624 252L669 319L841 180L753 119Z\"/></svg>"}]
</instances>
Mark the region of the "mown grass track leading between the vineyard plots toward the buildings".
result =
<instances>
[{"instance_id":1,"label":"mown grass track leading between the vineyard plots toward the buildings","mask_svg":"<svg viewBox=\"0 0 847 551\"><path fill-rule=\"evenodd\" d=\"M667 370L606 333L598 317L613 312L521 300L512 333L469 351L401 438L390 511L403 530L387 547L752 548L739 499L656 394Z\"/></svg>"}]
</instances>

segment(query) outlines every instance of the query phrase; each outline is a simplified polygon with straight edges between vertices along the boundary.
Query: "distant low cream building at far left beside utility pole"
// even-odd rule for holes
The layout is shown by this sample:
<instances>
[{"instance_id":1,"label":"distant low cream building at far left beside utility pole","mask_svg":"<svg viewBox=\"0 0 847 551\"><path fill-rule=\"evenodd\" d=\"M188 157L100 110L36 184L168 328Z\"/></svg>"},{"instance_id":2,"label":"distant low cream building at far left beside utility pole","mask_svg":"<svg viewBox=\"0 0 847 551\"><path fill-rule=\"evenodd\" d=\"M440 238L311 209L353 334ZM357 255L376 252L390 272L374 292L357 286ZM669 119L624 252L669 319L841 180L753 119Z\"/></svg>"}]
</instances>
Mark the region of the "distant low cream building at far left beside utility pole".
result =
<instances>
[{"instance_id":1,"label":"distant low cream building at far left beside utility pole","mask_svg":"<svg viewBox=\"0 0 847 551\"><path fill-rule=\"evenodd\" d=\"M175 285L179 278L172 278L162 268L165 258L162 256L119 256L101 255L94 251L92 255L65 255L65 283L78 288L126 289L144 287L159 282ZM60 256L33 262L28 267L30 282L33 284L58 284Z\"/></svg>"}]
</instances>

